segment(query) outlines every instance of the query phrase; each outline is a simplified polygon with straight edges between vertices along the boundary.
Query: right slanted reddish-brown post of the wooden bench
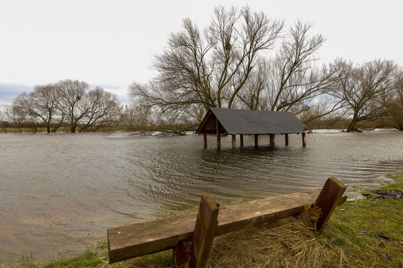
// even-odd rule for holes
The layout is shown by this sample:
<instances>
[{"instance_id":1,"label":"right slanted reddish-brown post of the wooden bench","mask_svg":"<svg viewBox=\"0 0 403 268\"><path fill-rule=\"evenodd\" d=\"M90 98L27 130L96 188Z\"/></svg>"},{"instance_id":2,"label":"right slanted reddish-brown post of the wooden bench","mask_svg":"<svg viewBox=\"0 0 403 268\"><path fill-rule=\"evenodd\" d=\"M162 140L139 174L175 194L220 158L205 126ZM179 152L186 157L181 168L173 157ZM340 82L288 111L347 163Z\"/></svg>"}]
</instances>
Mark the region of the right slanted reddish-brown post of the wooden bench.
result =
<instances>
[{"instance_id":1,"label":"right slanted reddish-brown post of the wooden bench","mask_svg":"<svg viewBox=\"0 0 403 268\"><path fill-rule=\"evenodd\" d=\"M336 178L330 177L327 179L315 202L316 206L322 210L322 215L316 223L316 230L319 232L323 230L334 208L341 202L345 190L346 186Z\"/></svg>"}]
</instances>

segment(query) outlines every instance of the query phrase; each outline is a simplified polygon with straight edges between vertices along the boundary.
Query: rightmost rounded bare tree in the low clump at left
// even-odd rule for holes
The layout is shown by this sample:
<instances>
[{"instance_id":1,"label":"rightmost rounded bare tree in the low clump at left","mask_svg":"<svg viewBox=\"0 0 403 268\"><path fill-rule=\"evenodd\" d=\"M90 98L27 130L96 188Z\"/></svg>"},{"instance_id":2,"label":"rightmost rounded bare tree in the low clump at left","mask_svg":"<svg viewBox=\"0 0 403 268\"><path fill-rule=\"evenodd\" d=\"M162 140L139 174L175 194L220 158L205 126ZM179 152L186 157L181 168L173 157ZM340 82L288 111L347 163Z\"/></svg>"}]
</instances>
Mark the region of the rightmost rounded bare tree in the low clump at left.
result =
<instances>
[{"instance_id":1,"label":"rightmost rounded bare tree in the low clump at left","mask_svg":"<svg viewBox=\"0 0 403 268\"><path fill-rule=\"evenodd\" d=\"M116 94L105 91L102 87L90 90L79 103L82 111L87 111L82 118L81 131L97 131L118 119L119 101Z\"/></svg>"}]
</instances>

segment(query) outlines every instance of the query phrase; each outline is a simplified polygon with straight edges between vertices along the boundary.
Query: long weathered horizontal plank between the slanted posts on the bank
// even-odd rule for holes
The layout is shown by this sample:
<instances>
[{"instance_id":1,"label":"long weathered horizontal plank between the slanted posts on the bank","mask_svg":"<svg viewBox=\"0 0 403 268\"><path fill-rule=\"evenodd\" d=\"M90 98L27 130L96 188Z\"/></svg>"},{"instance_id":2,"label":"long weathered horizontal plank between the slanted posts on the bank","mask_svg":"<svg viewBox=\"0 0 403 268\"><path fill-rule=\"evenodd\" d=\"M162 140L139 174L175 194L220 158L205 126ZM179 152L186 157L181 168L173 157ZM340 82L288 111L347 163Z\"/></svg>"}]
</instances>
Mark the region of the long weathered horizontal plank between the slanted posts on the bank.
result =
<instances>
[{"instance_id":1,"label":"long weathered horizontal plank between the slanted posts on the bank","mask_svg":"<svg viewBox=\"0 0 403 268\"><path fill-rule=\"evenodd\" d=\"M215 236L297 215L305 205L314 203L320 190L220 207ZM108 229L109 262L173 249L179 241L193 239L197 214L192 212Z\"/></svg>"}]
</instances>

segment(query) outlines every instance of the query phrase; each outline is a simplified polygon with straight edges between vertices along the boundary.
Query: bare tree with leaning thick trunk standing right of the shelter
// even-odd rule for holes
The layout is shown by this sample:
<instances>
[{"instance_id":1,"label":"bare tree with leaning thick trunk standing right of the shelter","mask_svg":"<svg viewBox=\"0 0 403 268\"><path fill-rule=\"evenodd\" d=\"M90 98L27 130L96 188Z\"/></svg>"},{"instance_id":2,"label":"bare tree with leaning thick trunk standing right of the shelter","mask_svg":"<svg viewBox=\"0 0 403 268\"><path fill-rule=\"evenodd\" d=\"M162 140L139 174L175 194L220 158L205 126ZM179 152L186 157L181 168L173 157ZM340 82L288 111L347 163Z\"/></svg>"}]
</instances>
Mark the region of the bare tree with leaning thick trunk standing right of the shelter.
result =
<instances>
[{"instance_id":1,"label":"bare tree with leaning thick trunk standing right of the shelter","mask_svg":"<svg viewBox=\"0 0 403 268\"><path fill-rule=\"evenodd\" d=\"M396 71L397 65L391 60L343 64L332 94L347 105L347 116L351 118L347 132L361 132L358 129L360 122L388 115L389 110L382 100L396 85Z\"/></svg>"}]
</instances>

